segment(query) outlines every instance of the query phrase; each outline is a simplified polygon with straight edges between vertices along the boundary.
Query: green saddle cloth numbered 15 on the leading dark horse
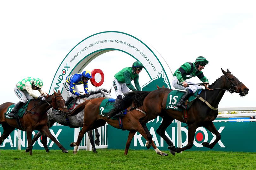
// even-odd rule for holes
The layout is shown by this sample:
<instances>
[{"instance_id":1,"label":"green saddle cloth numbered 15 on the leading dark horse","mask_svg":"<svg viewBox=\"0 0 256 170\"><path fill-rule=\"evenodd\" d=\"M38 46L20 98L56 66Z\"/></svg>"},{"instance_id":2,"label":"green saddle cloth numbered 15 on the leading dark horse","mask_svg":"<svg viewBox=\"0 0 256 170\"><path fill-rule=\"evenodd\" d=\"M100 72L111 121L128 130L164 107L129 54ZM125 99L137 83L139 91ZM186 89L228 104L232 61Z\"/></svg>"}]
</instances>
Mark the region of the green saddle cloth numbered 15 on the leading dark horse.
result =
<instances>
[{"instance_id":1,"label":"green saddle cloth numbered 15 on the leading dark horse","mask_svg":"<svg viewBox=\"0 0 256 170\"><path fill-rule=\"evenodd\" d=\"M201 93L202 89L198 89L192 96L188 98L188 103L192 102L196 99L197 95ZM166 101L166 109L173 109L177 111L182 111L183 108L178 108L176 105L180 102L181 98L184 96L186 92L173 90L168 94L167 101ZM189 109L189 107L187 108Z\"/></svg>"}]
</instances>

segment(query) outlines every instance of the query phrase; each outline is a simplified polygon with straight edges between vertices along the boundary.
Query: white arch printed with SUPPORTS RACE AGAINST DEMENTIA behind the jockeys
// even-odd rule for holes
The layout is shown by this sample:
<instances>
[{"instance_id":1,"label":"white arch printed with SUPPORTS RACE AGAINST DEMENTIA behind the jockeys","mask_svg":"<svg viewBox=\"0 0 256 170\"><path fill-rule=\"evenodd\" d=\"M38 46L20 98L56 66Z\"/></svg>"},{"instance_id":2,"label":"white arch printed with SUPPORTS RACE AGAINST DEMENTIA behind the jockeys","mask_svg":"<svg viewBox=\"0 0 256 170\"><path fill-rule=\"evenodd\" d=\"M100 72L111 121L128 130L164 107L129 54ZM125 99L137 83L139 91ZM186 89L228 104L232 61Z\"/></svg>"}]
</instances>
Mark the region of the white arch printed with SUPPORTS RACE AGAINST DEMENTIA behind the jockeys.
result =
<instances>
[{"instance_id":1,"label":"white arch printed with SUPPORTS RACE AGAINST DEMENTIA behind the jockeys","mask_svg":"<svg viewBox=\"0 0 256 170\"><path fill-rule=\"evenodd\" d=\"M94 58L112 50L125 52L137 61L142 62L151 80L162 74L165 82L168 83L168 88L171 88L168 78L168 76L172 76L171 70L155 49L149 48L149 45L127 33L107 31L83 39L70 50L54 75L49 94L53 90L62 91L61 81L65 77L80 73Z\"/></svg>"}]
</instances>

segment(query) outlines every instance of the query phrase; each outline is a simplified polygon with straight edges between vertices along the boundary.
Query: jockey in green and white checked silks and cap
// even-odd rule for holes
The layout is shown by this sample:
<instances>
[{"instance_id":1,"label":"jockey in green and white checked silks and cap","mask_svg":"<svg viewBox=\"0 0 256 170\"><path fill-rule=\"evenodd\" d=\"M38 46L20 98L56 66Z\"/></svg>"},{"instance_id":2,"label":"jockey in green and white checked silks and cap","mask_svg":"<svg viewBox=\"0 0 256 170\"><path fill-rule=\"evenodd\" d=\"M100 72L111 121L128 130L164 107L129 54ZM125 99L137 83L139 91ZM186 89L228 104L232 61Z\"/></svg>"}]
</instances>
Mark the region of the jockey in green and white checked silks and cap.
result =
<instances>
[{"instance_id":1,"label":"jockey in green and white checked silks and cap","mask_svg":"<svg viewBox=\"0 0 256 170\"><path fill-rule=\"evenodd\" d=\"M47 95L46 92L44 92L41 88L43 87L43 81L41 79L34 79L32 77L27 77L25 79L22 79L19 81L15 88L14 92L15 95L21 100L18 102L15 107L12 109L12 111L8 114L10 117L16 117L16 113L21 108L24 106L24 104L27 102L29 99L41 99L45 100L45 97ZM37 96L37 94L34 93L33 90L38 90L41 95L43 96Z\"/></svg>"}]
</instances>

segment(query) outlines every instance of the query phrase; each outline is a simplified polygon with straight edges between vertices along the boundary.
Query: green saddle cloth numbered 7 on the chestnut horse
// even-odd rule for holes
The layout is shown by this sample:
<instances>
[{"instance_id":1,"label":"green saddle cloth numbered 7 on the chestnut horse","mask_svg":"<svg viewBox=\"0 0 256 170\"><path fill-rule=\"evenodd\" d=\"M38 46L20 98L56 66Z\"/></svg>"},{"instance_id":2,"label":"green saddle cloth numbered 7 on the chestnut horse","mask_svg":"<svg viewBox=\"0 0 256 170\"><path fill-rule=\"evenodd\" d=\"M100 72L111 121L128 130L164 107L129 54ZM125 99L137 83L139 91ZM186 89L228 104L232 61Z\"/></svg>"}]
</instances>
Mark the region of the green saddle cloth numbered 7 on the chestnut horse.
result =
<instances>
[{"instance_id":1,"label":"green saddle cloth numbered 7 on the chestnut horse","mask_svg":"<svg viewBox=\"0 0 256 170\"><path fill-rule=\"evenodd\" d=\"M115 101L116 99L112 99L112 98L103 99L100 105L100 110L99 110L100 115L105 117L106 114L108 114L114 108ZM126 109L123 111L123 114L126 114Z\"/></svg>"}]
</instances>

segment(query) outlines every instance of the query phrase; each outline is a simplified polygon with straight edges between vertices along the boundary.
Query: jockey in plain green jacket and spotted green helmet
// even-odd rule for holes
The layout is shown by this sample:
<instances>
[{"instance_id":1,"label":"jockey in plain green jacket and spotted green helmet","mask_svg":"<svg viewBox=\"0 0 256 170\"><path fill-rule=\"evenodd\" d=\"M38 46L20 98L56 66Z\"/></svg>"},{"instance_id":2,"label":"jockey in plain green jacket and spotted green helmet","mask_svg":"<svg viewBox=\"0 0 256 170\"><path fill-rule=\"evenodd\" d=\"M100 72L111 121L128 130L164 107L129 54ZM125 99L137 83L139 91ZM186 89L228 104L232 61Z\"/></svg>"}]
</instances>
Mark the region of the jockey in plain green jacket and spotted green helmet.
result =
<instances>
[{"instance_id":1,"label":"jockey in plain green jacket and spotted green helmet","mask_svg":"<svg viewBox=\"0 0 256 170\"><path fill-rule=\"evenodd\" d=\"M131 91L141 91L139 85L139 73L144 68L143 64L139 61L134 62L132 67L125 67L121 71L115 74L113 79L113 88L116 92L116 102L122 99L122 93L125 94ZM131 81L134 80L134 86Z\"/></svg>"}]
</instances>

